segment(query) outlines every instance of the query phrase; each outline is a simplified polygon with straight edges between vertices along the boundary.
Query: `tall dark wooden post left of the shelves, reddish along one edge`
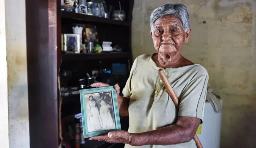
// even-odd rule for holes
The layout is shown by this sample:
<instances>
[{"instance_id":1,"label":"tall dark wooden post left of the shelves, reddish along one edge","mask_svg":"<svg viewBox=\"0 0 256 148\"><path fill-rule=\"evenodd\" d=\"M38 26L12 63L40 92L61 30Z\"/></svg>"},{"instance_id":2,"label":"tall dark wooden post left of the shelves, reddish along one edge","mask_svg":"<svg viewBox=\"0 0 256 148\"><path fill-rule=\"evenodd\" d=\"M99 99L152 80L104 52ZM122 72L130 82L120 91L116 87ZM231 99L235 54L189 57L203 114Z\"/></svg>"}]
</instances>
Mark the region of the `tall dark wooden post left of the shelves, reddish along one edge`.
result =
<instances>
[{"instance_id":1,"label":"tall dark wooden post left of the shelves, reddish along one edge","mask_svg":"<svg viewBox=\"0 0 256 148\"><path fill-rule=\"evenodd\" d=\"M31 148L58 147L56 9L56 0L26 0Z\"/></svg>"}]
</instances>

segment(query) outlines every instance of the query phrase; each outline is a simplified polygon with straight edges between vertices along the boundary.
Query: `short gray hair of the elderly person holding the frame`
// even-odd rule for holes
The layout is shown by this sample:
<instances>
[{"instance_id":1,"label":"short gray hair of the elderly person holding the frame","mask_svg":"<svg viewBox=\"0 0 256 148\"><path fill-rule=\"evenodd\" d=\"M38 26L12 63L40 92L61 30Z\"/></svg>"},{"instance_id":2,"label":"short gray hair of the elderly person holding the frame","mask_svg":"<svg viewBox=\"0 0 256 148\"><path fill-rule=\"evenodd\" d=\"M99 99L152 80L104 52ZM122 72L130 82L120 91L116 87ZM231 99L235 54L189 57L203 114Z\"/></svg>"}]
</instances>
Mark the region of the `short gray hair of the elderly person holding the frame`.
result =
<instances>
[{"instance_id":1,"label":"short gray hair of the elderly person holding the frame","mask_svg":"<svg viewBox=\"0 0 256 148\"><path fill-rule=\"evenodd\" d=\"M150 28L152 32L154 32L155 21L166 15L172 15L177 17L181 21L184 32L188 31L188 29L190 28L187 7L183 4L167 3L161 7L154 9L154 11L151 13Z\"/></svg>"}]
</instances>

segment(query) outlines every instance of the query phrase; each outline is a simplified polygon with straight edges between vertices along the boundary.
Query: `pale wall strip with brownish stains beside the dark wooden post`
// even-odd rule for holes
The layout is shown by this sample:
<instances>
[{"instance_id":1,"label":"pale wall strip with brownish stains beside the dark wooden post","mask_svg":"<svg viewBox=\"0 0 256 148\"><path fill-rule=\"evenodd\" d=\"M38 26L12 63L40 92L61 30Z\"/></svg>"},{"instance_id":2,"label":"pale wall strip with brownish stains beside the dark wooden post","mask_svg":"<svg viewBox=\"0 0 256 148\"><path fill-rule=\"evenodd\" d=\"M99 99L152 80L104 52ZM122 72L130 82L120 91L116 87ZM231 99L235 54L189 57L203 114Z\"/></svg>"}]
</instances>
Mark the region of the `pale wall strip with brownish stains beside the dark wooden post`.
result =
<instances>
[{"instance_id":1,"label":"pale wall strip with brownish stains beside the dark wooden post","mask_svg":"<svg viewBox=\"0 0 256 148\"><path fill-rule=\"evenodd\" d=\"M9 145L29 148L25 0L5 0L5 17Z\"/></svg>"}]
</instances>

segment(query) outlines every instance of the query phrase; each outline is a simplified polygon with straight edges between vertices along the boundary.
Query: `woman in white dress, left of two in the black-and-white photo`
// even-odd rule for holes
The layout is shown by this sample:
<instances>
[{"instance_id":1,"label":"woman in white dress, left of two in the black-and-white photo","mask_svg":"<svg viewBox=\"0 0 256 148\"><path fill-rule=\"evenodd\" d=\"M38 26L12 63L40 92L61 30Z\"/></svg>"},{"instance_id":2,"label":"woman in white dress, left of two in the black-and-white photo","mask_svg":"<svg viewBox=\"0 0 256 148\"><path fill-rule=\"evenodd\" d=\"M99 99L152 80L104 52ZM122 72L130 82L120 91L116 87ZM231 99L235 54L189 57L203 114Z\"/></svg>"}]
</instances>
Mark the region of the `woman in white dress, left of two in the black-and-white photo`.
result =
<instances>
[{"instance_id":1,"label":"woman in white dress, left of two in the black-and-white photo","mask_svg":"<svg viewBox=\"0 0 256 148\"><path fill-rule=\"evenodd\" d=\"M87 113L88 132L98 131L102 129L102 119L99 115L99 109L97 107L97 103L95 100L93 100L93 96L89 96L87 108L88 108L88 113Z\"/></svg>"}]
</instances>

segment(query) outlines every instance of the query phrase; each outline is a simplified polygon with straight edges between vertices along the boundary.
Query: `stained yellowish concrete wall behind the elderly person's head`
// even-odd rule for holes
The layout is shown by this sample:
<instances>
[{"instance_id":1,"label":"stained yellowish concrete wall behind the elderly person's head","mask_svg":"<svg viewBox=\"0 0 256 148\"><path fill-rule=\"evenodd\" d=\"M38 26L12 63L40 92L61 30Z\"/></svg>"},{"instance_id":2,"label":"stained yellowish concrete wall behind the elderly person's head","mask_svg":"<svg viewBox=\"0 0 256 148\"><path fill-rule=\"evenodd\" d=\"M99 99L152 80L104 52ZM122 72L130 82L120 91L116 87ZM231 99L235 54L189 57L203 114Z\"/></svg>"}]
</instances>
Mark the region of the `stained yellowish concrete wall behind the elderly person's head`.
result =
<instances>
[{"instance_id":1,"label":"stained yellowish concrete wall behind the elderly person's head","mask_svg":"<svg viewBox=\"0 0 256 148\"><path fill-rule=\"evenodd\" d=\"M156 52L149 34L149 16L168 2L188 7L192 31L182 54L208 70L211 86L224 101L221 147L256 147L256 1L136 0L134 59Z\"/></svg>"}]
</instances>

